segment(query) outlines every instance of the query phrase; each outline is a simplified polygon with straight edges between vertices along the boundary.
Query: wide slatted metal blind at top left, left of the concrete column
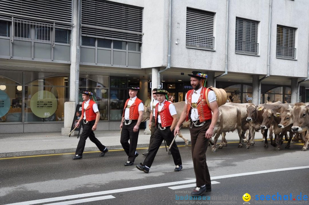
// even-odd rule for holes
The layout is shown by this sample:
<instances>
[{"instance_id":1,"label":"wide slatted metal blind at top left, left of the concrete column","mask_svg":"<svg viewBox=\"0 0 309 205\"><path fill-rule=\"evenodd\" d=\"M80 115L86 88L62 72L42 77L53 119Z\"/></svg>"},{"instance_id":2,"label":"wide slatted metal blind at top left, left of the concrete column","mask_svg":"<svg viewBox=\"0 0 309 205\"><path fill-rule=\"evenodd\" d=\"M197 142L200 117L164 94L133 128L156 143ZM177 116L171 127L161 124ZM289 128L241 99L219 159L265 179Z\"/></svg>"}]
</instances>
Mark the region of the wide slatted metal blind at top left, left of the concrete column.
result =
<instances>
[{"instance_id":1,"label":"wide slatted metal blind at top left, left of the concrete column","mask_svg":"<svg viewBox=\"0 0 309 205\"><path fill-rule=\"evenodd\" d=\"M0 5L0 16L40 18L55 22L56 26L72 27L72 0L0 0Z\"/></svg>"}]
</instances>

